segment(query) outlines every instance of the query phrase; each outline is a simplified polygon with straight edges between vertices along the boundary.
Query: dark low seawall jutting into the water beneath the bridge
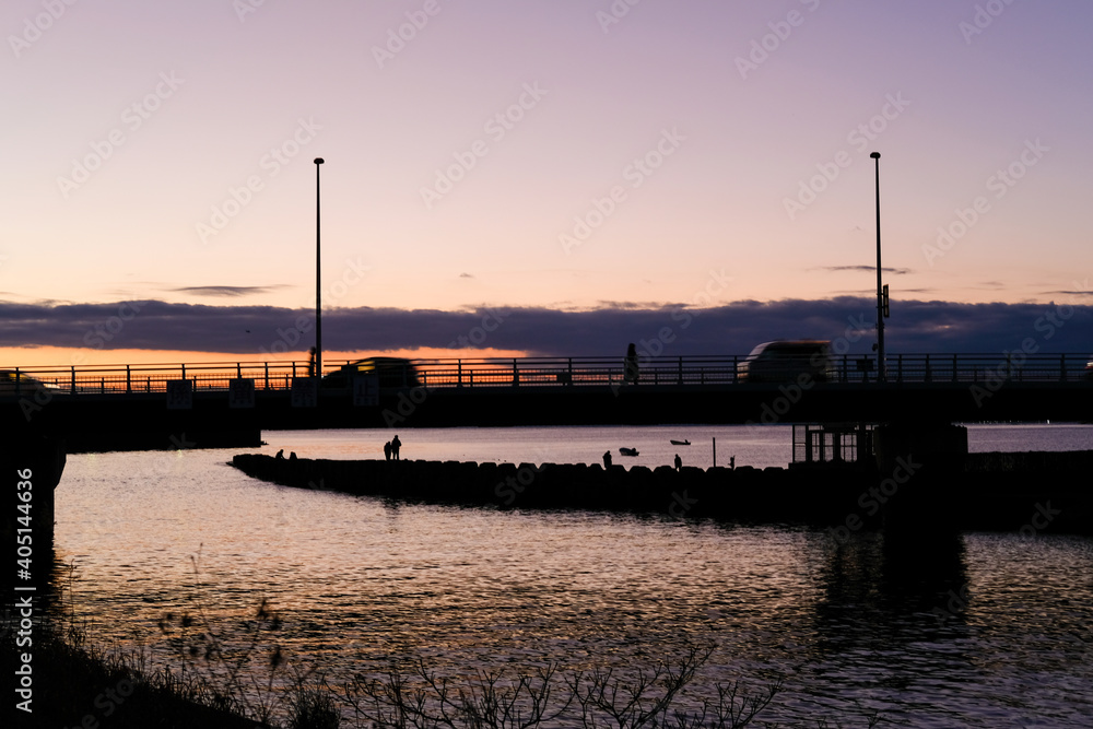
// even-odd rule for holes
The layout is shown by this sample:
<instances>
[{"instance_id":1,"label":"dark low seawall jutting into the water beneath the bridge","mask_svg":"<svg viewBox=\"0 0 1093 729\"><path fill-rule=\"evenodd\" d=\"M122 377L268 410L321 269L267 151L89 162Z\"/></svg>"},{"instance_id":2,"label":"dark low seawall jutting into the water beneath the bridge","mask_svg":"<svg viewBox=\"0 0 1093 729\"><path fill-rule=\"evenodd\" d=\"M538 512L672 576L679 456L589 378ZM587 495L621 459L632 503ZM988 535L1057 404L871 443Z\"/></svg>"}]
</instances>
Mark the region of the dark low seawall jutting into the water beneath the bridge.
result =
<instances>
[{"instance_id":1,"label":"dark low seawall jutting into the water beneath the bridge","mask_svg":"<svg viewBox=\"0 0 1093 729\"><path fill-rule=\"evenodd\" d=\"M997 455L998 463L1006 461ZM493 508L595 509L845 527L848 531L901 524L909 529L1091 531L1093 452L1037 455L1057 463L1049 478L1022 468L997 469L989 458L968 470L908 469L879 474L860 467L649 469L583 463L474 463L459 461L277 460L238 455L248 475L286 486L339 491L408 502ZM1018 459L1020 460L1020 459ZM1036 459L1034 459L1036 460ZM909 472L907 472L909 471ZM1048 506L1047 503L1050 503ZM1037 505L1039 508L1037 508Z\"/></svg>"}]
</instances>

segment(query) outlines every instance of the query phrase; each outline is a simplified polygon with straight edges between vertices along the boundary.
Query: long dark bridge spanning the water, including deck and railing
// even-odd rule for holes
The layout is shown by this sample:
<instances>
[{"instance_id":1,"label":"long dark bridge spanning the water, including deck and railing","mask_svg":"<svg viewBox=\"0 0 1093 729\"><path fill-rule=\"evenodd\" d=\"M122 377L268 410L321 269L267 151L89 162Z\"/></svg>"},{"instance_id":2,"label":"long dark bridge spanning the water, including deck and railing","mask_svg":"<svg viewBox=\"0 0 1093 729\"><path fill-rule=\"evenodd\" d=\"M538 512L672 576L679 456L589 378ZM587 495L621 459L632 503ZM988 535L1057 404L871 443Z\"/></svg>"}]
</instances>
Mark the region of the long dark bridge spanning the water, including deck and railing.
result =
<instances>
[{"instance_id":1,"label":"long dark bridge spanning the water, including deck and railing","mask_svg":"<svg viewBox=\"0 0 1093 729\"><path fill-rule=\"evenodd\" d=\"M0 422L69 451L257 445L262 430L653 423L1088 421L1093 371L1077 354L843 355L825 372L747 377L745 355L346 361L0 371ZM880 375L880 376L878 376ZM772 381L783 379L784 381Z\"/></svg>"}]
</instances>

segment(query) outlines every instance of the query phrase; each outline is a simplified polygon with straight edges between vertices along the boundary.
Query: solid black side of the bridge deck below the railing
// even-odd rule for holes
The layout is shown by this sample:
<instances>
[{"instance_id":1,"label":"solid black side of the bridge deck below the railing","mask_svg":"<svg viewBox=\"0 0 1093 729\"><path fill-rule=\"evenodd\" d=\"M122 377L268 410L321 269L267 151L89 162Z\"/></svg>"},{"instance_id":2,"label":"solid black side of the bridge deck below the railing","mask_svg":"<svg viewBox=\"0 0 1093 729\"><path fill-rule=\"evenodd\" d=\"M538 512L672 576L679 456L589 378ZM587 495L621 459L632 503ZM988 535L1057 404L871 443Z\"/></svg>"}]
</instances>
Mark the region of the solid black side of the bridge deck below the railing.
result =
<instances>
[{"instance_id":1,"label":"solid black side of the bridge deck below the railing","mask_svg":"<svg viewBox=\"0 0 1093 729\"><path fill-rule=\"evenodd\" d=\"M235 409L226 392L213 391L196 393L185 410L167 409L163 393L78 395L57 396L30 413L16 401L0 402L0 425L44 427L74 452L179 447L178 440L256 445L262 430L319 427L1093 419L1093 381L1009 383L984 392L989 397L959 384L413 388L384 390L372 407L355 407L348 391L324 391L317 407L304 408L293 407L287 392L259 391L252 408Z\"/></svg>"}]
</instances>

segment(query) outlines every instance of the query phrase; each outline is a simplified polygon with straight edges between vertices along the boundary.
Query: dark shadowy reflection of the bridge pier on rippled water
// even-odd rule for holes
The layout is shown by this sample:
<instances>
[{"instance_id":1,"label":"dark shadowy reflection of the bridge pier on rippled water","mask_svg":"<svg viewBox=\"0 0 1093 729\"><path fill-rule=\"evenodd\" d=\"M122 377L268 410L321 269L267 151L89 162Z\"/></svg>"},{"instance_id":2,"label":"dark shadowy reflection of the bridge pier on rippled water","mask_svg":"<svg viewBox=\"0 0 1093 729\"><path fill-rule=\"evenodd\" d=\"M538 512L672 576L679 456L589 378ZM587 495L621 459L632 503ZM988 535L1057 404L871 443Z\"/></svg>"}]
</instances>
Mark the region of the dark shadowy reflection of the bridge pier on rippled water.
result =
<instances>
[{"instance_id":1,"label":"dark shadowy reflection of the bridge pier on rippled water","mask_svg":"<svg viewBox=\"0 0 1093 729\"><path fill-rule=\"evenodd\" d=\"M820 706L847 698L888 720L962 724L944 706L945 690L972 661L960 639L965 603L941 620L952 595L967 593L964 540L956 533L860 533L830 540L820 571L822 598L813 624L816 655L810 681ZM837 690L833 691L833 687ZM957 702L959 703L959 702Z\"/></svg>"}]
</instances>

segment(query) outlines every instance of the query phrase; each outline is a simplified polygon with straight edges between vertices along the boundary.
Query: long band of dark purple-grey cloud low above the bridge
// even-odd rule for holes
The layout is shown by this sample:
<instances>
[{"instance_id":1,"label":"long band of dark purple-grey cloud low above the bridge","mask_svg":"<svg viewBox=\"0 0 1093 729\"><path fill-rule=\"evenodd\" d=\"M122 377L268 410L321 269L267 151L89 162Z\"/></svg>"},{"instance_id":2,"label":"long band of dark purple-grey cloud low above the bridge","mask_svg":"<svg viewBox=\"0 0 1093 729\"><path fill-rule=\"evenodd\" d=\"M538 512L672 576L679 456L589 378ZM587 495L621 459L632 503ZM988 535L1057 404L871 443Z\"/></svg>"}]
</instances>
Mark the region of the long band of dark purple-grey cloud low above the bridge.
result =
<instances>
[{"instance_id":1,"label":"long band of dark purple-grey cloud low above the bridge","mask_svg":"<svg viewBox=\"0 0 1093 729\"><path fill-rule=\"evenodd\" d=\"M474 346L537 355L611 355L628 342L666 355L740 354L771 339L873 342L875 298L743 301L708 309L630 303L591 310L538 307L440 311L333 308L322 313L329 350ZM249 331L248 331L249 330ZM860 332L858 330L861 330ZM893 301L885 325L891 353L1001 352L1032 339L1042 352L1093 351L1093 306ZM272 306L0 303L0 345L192 350L258 354L304 352L314 311Z\"/></svg>"}]
</instances>

